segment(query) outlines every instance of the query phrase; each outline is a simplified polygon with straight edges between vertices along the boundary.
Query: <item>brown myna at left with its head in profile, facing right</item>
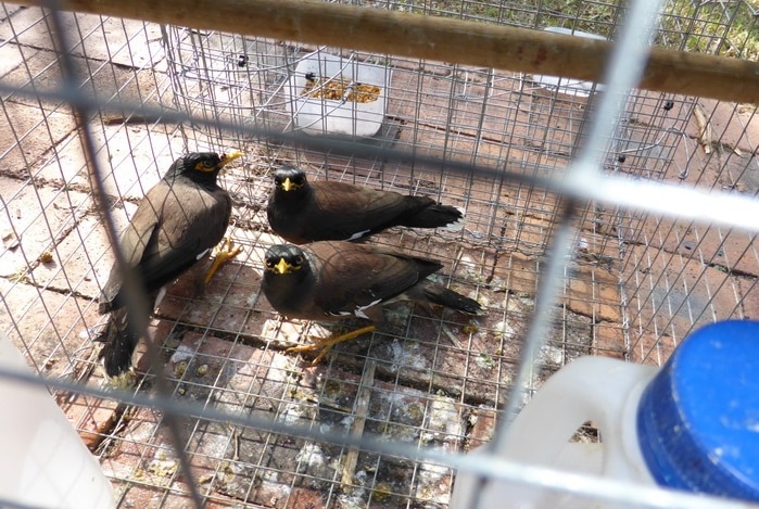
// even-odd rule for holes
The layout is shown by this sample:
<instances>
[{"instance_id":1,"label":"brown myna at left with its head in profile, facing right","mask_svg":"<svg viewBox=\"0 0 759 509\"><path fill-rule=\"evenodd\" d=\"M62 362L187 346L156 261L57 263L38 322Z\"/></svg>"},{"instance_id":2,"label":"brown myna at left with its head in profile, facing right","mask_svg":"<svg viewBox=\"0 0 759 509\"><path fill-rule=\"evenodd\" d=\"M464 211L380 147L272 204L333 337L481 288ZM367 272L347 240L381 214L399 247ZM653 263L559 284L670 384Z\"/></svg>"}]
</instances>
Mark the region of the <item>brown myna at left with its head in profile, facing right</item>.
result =
<instances>
[{"instance_id":1,"label":"brown myna at left with its head in profile, facing right","mask_svg":"<svg viewBox=\"0 0 759 509\"><path fill-rule=\"evenodd\" d=\"M179 157L163 179L144 195L129 226L122 234L121 249L131 277L137 279L148 302L140 313L150 316L163 297L163 288L206 257L222 241L229 225L232 201L216 183L219 170L242 155L231 152L190 153ZM218 251L203 283L239 250ZM100 357L105 373L115 379L128 374L131 355L142 330L127 313L124 273L116 264L100 296L101 315L111 313L103 332Z\"/></svg>"}]
</instances>

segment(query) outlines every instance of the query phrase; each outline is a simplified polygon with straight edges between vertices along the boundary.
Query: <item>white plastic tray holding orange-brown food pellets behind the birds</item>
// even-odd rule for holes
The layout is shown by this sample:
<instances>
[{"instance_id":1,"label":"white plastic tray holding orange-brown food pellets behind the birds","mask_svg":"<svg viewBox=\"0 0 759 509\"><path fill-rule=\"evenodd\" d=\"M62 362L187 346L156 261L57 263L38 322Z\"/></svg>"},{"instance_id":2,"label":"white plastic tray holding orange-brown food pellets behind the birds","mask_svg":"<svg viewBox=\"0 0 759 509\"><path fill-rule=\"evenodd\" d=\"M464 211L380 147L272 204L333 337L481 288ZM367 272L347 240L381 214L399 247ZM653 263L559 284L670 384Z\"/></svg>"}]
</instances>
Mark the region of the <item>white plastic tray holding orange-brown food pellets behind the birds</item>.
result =
<instances>
[{"instance_id":1,"label":"white plastic tray holding orange-brown food pellets behind the birds","mask_svg":"<svg viewBox=\"0 0 759 509\"><path fill-rule=\"evenodd\" d=\"M321 79L379 87L379 98L370 102L313 98L304 94L306 75ZM296 129L309 135L370 137L379 131L388 102L388 67L356 62L317 51L303 59L288 81L288 104Z\"/></svg>"}]
</instances>

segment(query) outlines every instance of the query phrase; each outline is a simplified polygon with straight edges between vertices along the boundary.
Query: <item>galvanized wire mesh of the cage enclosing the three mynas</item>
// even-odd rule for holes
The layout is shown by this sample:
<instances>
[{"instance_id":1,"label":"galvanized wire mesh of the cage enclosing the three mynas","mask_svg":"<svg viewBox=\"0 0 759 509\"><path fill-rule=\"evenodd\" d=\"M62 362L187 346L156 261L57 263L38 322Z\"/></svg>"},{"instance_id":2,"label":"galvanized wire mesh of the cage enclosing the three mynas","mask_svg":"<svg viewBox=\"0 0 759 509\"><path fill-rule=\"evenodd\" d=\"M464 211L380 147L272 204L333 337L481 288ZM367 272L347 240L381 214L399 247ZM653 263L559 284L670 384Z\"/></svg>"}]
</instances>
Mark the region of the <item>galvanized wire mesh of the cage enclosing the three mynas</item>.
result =
<instances>
[{"instance_id":1,"label":"galvanized wire mesh of the cage enclosing the three mynas","mask_svg":"<svg viewBox=\"0 0 759 509\"><path fill-rule=\"evenodd\" d=\"M622 37L616 2L532 3L370 7ZM654 40L744 55L748 39L733 24L750 9L665 2ZM632 90L609 110L602 98L620 97L625 76L615 75L612 93L585 97L546 77L350 48L13 4L0 17L0 323L37 380L58 387L121 507L444 507L453 466L637 506L699 504L451 454L490 441L502 410L572 358L658 365L695 326L757 317L756 225L738 212L757 208L741 196L759 188L752 109ZM67 44L61 55L51 30ZM631 46L619 51L633 80ZM289 79L326 55L379 66L387 79L378 135L350 150L290 136ZM113 255L101 213L121 231L176 156L231 148L245 152L223 179L243 253L203 295L189 278L170 288L149 330L157 369L142 356L134 393L103 394L92 339ZM261 295L261 257L277 242L264 207L283 163L463 207L463 231L399 229L372 242L441 259L440 280L486 317L400 307L390 330L315 367L286 354L319 327L282 320Z\"/></svg>"}]
</instances>

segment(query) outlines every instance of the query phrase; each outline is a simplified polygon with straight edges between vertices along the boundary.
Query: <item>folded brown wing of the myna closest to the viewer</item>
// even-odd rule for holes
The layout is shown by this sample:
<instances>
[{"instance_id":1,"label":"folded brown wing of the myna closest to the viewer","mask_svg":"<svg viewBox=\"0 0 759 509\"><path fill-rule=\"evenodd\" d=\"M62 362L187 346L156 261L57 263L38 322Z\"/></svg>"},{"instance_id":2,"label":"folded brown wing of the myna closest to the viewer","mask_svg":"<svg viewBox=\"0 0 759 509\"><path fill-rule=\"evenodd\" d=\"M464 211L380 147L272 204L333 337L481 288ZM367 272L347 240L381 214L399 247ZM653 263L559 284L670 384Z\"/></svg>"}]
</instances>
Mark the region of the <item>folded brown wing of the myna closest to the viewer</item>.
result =
<instances>
[{"instance_id":1,"label":"folded brown wing of the myna closest to the viewer","mask_svg":"<svg viewBox=\"0 0 759 509\"><path fill-rule=\"evenodd\" d=\"M330 315L356 314L400 295L426 277L414 258L350 242L315 242L315 304ZM360 316L360 315L359 315Z\"/></svg>"}]
</instances>

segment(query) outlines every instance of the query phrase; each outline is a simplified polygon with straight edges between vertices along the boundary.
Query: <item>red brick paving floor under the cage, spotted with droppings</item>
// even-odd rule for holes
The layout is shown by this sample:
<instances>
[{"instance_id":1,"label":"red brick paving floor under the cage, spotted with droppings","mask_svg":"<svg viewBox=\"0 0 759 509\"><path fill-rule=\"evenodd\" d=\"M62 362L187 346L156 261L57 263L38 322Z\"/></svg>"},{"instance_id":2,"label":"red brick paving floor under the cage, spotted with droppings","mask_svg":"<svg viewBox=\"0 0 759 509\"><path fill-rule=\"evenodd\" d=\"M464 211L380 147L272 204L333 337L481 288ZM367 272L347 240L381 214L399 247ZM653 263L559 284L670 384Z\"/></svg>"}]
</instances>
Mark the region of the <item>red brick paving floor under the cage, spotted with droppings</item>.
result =
<instances>
[{"instance_id":1,"label":"red brick paving floor under the cage, spotted with droppings","mask_svg":"<svg viewBox=\"0 0 759 509\"><path fill-rule=\"evenodd\" d=\"M39 372L67 377L91 369L87 383L98 386L103 382L94 366L99 346L88 331L102 320L93 301L112 255L73 115L55 100L40 102L22 93L30 90L30 76L40 89L60 84L48 27L38 9L11 7L10 12L20 37L0 46L0 79L20 90L3 97L0 120L0 327ZM87 93L174 107L172 94L182 91L170 90L166 81L160 27L121 20L105 20L101 26L94 16L78 20L74 24L73 16L64 16L68 29L84 37L74 53L75 67L91 75L81 82ZM0 38L13 39L3 20ZM390 118L378 143L499 171L531 173L537 165L547 173L561 171L552 168L562 168L569 158L585 115L584 100L552 100L527 81L527 89L517 90L520 82L505 75L488 89L488 76L479 69L459 68L456 75L441 69L396 69ZM213 90L222 87L215 84ZM422 104L416 101L417 91ZM483 109L485 92L491 96ZM706 154L694 141L694 120L683 118L690 103L675 99L667 115L660 94L636 99L628 112L625 145L635 150L620 171L641 170L648 157L656 166L648 168L653 178L666 170L668 179L680 181L675 174L687 165L683 184L743 193L759 189L756 173L746 170L759 138L750 112L738 109L733 115L730 105L700 101L721 143ZM89 124L118 229L187 141L176 126L126 123L119 115L107 111ZM641 149L652 126L673 118L682 123L684 135L667 131L665 141L657 142L660 160ZM450 123L456 128L447 129ZM204 139L191 137L189 144L201 147ZM675 142L673 164L665 168L666 152ZM235 199L230 233L243 252L203 292L198 292L193 275L182 276L151 321L151 339L161 346L157 366L169 378L174 399L347 433L356 420L362 374L371 365L365 433L441 451L471 450L488 442L497 420L494 408L505 403L534 308L560 207L556 196L502 181L497 174L471 180L445 168L441 173L319 151L293 155L291 148L282 148L284 160L304 161L319 178L428 194L466 208L461 232L394 229L372 242L441 259L439 281L488 308L485 316L470 319L399 305L389 310L385 328L336 346L312 366L313 355L283 351L328 331L283 320L261 295L263 252L279 241L263 212L271 187L268 150L251 149L244 165L223 177ZM532 386L581 355L658 365L694 326L731 316L759 318L759 262L748 236L621 213L627 216L622 221L633 226L643 220L640 230L622 230L628 242L622 260L616 211L589 207L579 218L578 259L560 281ZM46 252L52 258L42 262ZM620 306L623 298L625 308ZM146 349L141 344L136 355L140 374L151 367ZM149 391L151 376L142 382ZM111 399L84 396L62 406L97 451L122 507L187 507L188 480L178 468L161 411L125 409ZM189 417L180 419L180 428L206 507L447 502L453 476L446 469L362 451L346 474L350 482L341 486L350 456L345 448Z\"/></svg>"}]
</instances>

